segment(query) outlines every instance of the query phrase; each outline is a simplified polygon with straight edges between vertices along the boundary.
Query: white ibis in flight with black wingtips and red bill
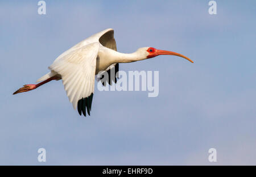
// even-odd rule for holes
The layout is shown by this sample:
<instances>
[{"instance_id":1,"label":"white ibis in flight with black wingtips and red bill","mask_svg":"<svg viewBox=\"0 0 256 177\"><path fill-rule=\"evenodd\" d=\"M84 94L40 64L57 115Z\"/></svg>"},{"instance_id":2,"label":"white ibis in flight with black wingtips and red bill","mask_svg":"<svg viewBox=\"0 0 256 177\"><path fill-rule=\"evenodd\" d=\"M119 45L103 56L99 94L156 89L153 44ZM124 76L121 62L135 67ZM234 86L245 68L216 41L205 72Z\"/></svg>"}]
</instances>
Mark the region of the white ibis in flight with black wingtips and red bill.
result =
<instances>
[{"instance_id":1,"label":"white ibis in flight with black wingtips and red bill","mask_svg":"<svg viewBox=\"0 0 256 177\"><path fill-rule=\"evenodd\" d=\"M193 62L182 54L152 47L139 48L134 53L119 53L114 39L114 30L105 29L81 41L57 57L53 64L48 67L51 71L36 81L40 83L24 85L13 94L34 90L49 81L62 79L73 108L77 108L79 114L83 113L84 116L86 116L87 109L88 115L90 115L96 74L100 71L110 73L112 69L117 73L118 63L145 60L162 54L183 57ZM112 81L116 82L116 78L108 79L109 84L112 84Z\"/></svg>"}]
</instances>

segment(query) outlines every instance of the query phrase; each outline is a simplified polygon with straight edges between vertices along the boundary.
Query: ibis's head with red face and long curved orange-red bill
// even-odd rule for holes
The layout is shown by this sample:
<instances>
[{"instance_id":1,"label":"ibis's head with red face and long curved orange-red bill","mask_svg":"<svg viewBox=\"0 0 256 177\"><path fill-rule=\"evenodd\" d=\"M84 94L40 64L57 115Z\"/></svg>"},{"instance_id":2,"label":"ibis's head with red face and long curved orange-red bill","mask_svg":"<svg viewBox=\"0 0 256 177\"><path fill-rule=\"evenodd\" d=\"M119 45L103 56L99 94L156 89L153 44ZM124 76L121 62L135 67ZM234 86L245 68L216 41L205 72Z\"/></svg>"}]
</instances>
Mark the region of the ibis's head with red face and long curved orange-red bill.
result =
<instances>
[{"instance_id":1,"label":"ibis's head with red face and long curved orange-red bill","mask_svg":"<svg viewBox=\"0 0 256 177\"><path fill-rule=\"evenodd\" d=\"M152 58L152 57L156 57L159 55L174 55L174 56L183 57L193 63L192 60L190 60L188 57L186 57L180 53L171 52L171 51L167 51L167 50L159 50L159 49L155 49L153 47L139 48L137 50L137 52L141 53L145 58Z\"/></svg>"}]
</instances>

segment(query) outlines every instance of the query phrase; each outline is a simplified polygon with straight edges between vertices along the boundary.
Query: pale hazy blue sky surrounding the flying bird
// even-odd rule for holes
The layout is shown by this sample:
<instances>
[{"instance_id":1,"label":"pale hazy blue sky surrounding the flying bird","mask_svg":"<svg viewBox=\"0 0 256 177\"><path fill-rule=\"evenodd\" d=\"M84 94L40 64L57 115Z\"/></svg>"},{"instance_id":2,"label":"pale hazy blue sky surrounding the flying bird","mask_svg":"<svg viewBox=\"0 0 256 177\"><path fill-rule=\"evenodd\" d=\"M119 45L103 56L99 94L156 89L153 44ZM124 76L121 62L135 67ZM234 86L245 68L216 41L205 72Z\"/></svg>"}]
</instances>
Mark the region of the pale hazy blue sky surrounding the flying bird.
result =
<instances>
[{"instance_id":1,"label":"pale hazy blue sky surrounding the flying bird","mask_svg":"<svg viewBox=\"0 0 256 177\"><path fill-rule=\"evenodd\" d=\"M1 1L0 165L256 165L256 2L216 1L217 15L208 2L46 1L38 15L38 1ZM12 95L105 28L119 52L150 46L195 63L121 64L159 71L159 96L96 90L90 117L73 110L60 81Z\"/></svg>"}]
</instances>

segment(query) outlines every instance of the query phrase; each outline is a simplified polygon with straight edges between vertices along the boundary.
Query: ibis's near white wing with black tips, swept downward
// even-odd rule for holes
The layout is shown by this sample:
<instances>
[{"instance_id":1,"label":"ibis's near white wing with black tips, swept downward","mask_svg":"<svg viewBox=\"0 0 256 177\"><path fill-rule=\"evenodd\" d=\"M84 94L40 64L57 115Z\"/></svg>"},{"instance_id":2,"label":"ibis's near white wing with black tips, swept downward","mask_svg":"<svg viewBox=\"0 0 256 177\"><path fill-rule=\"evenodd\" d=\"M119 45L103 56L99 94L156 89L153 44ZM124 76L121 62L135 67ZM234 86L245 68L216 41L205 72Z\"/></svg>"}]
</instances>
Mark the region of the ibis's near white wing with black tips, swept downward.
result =
<instances>
[{"instance_id":1,"label":"ibis's near white wing with black tips, swept downward","mask_svg":"<svg viewBox=\"0 0 256 177\"><path fill-rule=\"evenodd\" d=\"M69 102L74 109L90 115L94 92L94 77L99 43L84 45L72 50L59 60L53 62L49 69L61 75Z\"/></svg>"}]
</instances>

